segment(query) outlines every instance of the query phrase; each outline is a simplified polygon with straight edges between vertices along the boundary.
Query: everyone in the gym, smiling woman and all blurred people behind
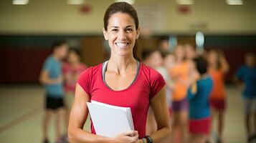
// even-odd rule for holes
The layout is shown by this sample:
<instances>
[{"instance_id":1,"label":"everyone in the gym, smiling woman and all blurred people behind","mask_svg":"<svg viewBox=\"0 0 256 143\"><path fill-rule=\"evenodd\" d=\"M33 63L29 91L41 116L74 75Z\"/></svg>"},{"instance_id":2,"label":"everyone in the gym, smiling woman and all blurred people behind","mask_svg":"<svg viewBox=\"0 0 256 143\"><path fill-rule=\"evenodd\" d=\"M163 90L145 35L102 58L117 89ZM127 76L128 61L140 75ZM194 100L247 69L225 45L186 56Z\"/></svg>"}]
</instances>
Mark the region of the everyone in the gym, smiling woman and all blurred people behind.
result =
<instances>
[{"instance_id":1,"label":"everyone in the gym, smiling woman and all blurred people behind","mask_svg":"<svg viewBox=\"0 0 256 143\"><path fill-rule=\"evenodd\" d=\"M110 58L104 63L86 69L77 50L70 49L67 62L62 64L68 49L65 42L54 44L44 62L40 75L47 94L44 142L49 142L52 115L57 116L57 142L68 135L70 142L204 143L208 142L213 119L218 122L217 142L222 142L227 100L224 76L229 71L222 51L211 49L198 55L193 46L179 44L173 52L168 48L144 51L140 61L134 47L140 27L133 6L111 4L103 23L103 35L110 46ZM256 138L250 129L250 118L256 114L256 66L255 55L249 56L235 81L245 88L248 141L252 141ZM86 102L91 100L130 107L135 130L115 137L98 136L93 123L91 132L83 130L89 114ZM64 137L62 123L68 126Z\"/></svg>"}]
</instances>

